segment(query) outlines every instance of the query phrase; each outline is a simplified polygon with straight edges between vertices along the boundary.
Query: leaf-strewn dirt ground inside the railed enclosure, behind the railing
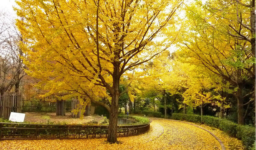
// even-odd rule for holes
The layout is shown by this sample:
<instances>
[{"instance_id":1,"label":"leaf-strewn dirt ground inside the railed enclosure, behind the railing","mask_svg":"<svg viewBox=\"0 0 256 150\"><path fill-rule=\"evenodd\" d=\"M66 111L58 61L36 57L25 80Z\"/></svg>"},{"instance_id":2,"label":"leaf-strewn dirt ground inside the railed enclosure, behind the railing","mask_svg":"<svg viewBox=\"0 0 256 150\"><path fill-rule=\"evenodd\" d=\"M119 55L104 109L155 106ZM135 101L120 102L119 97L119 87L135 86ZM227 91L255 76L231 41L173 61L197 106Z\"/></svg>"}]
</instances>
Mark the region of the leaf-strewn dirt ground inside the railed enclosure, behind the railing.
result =
<instances>
[{"instance_id":1,"label":"leaf-strewn dirt ground inside the railed enclosure, behind the railing","mask_svg":"<svg viewBox=\"0 0 256 150\"><path fill-rule=\"evenodd\" d=\"M71 113L66 116L56 116L56 113L25 113L24 122L38 124L67 124L67 125L95 125L105 124L107 119L98 115L84 116L83 119L72 118Z\"/></svg>"}]
</instances>

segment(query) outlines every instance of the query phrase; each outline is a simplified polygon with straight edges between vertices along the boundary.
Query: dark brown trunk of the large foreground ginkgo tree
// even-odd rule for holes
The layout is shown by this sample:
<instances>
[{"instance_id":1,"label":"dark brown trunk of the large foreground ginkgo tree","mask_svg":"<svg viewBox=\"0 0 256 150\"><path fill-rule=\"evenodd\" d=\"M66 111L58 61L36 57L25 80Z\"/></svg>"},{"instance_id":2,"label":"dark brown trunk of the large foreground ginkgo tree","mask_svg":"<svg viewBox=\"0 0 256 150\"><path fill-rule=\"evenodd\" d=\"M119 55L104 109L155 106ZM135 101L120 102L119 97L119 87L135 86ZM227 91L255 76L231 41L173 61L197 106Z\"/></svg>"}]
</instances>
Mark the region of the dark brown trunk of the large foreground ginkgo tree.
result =
<instances>
[{"instance_id":1,"label":"dark brown trunk of the large foreground ginkgo tree","mask_svg":"<svg viewBox=\"0 0 256 150\"><path fill-rule=\"evenodd\" d=\"M110 107L110 114L109 114L109 126L108 126L108 139L109 143L117 142L117 115L118 115L118 100L119 100L119 84L120 84L120 77L119 77L119 66L114 65L114 72L113 72L113 93L112 93L112 101Z\"/></svg>"}]
</instances>

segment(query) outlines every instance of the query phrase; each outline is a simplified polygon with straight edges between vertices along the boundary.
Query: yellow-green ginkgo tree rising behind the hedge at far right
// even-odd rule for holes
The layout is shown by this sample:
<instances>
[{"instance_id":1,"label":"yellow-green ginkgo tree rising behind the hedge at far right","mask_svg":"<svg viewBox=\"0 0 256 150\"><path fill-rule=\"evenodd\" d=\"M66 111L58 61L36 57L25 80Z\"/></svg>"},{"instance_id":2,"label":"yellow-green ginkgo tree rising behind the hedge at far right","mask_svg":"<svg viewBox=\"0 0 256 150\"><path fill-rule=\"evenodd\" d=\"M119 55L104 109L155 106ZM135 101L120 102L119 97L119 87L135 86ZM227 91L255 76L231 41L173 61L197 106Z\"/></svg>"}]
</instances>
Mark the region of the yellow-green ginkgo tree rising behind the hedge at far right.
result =
<instances>
[{"instance_id":1,"label":"yellow-green ginkgo tree rising behind the hedge at far right","mask_svg":"<svg viewBox=\"0 0 256 150\"><path fill-rule=\"evenodd\" d=\"M238 124L244 124L244 105L255 103L254 3L195 1L186 9L188 32L180 42L183 62L205 68L233 87ZM244 92L245 88L250 88L249 92ZM245 100L248 94L249 102Z\"/></svg>"}]
</instances>

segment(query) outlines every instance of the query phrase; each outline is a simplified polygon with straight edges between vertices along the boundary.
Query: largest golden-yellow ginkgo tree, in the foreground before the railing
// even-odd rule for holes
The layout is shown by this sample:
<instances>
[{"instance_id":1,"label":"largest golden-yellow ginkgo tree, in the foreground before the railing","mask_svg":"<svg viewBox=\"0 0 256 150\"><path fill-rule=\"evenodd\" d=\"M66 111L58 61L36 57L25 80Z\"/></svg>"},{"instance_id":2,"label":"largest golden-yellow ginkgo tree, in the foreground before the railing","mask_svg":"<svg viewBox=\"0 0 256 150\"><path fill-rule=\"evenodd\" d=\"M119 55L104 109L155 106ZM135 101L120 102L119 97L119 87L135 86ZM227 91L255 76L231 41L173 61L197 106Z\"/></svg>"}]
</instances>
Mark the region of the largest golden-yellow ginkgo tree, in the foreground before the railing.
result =
<instances>
[{"instance_id":1,"label":"largest golden-yellow ginkgo tree, in the foreground before the railing","mask_svg":"<svg viewBox=\"0 0 256 150\"><path fill-rule=\"evenodd\" d=\"M120 77L170 46L181 0L17 1L20 47L30 76L48 94L111 97L108 142L117 141ZM158 38L158 40L155 40ZM101 93L102 94L99 94ZM97 97L97 96L96 96Z\"/></svg>"}]
</instances>

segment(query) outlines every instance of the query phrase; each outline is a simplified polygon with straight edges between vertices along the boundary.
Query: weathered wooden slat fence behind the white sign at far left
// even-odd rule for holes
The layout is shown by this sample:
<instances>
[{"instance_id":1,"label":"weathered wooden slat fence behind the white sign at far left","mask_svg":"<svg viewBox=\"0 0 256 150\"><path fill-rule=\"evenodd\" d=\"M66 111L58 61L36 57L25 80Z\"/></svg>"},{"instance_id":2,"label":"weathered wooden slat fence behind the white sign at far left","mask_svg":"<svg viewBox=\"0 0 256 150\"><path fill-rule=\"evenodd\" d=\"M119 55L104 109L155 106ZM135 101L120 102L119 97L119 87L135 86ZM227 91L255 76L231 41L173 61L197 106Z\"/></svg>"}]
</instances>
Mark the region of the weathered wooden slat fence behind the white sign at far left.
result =
<instances>
[{"instance_id":1,"label":"weathered wooden slat fence behind the white sign at far left","mask_svg":"<svg viewBox=\"0 0 256 150\"><path fill-rule=\"evenodd\" d=\"M5 92L0 95L0 116L9 119L11 112L21 113L21 95Z\"/></svg>"}]
</instances>

